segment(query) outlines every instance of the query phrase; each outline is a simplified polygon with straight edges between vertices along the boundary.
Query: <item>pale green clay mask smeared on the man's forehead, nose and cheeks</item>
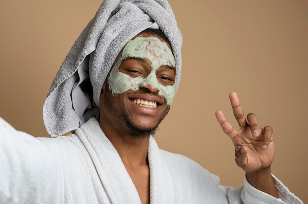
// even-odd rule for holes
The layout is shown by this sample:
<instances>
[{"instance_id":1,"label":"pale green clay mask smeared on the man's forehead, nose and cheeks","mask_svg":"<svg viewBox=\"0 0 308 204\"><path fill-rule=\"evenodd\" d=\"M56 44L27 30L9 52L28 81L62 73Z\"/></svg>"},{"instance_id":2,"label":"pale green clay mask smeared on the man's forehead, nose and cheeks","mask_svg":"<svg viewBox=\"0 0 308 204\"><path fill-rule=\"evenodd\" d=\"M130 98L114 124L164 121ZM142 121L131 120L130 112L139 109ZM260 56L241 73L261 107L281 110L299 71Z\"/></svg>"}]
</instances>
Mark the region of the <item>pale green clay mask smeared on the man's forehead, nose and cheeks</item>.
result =
<instances>
[{"instance_id":1,"label":"pale green clay mask smeared on the man's forehead, nose and cheeks","mask_svg":"<svg viewBox=\"0 0 308 204\"><path fill-rule=\"evenodd\" d=\"M151 73L148 77L130 77L119 72L119 66L127 57L147 58L151 61ZM159 95L165 97L167 104L171 105L175 96L175 84L163 86L156 77L156 70L162 65L175 67L172 51L165 42L156 37L136 37L130 40L123 49L121 57L115 63L108 78L109 88L113 94L121 94L127 90L138 90L140 86L151 85L158 88Z\"/></svg>"}]
</instances>

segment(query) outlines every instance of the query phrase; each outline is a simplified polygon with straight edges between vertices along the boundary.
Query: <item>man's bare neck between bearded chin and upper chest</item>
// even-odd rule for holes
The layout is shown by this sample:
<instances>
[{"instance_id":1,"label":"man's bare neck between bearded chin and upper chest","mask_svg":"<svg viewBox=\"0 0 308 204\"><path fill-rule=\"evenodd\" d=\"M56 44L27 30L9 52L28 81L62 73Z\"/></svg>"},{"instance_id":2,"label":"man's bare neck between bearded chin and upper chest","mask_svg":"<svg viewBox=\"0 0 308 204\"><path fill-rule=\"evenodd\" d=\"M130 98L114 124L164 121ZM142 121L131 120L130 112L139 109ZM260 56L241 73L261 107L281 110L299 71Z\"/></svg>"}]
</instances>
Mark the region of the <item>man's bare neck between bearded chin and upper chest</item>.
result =
<instances>
[{"instance_id":1,"label":"man's bare neck between bearded chin and upper chest","mask_svg":"<svg viewBox=\"0 0 308 204\"><path fill-rule=\"evenodd\" d=\"M113 146L119 153L124 165L138 167L148 164L148 146L150 136L133 136L127 132L114 129L112 126L99 123Z\"/></svg>"}]
</instances>

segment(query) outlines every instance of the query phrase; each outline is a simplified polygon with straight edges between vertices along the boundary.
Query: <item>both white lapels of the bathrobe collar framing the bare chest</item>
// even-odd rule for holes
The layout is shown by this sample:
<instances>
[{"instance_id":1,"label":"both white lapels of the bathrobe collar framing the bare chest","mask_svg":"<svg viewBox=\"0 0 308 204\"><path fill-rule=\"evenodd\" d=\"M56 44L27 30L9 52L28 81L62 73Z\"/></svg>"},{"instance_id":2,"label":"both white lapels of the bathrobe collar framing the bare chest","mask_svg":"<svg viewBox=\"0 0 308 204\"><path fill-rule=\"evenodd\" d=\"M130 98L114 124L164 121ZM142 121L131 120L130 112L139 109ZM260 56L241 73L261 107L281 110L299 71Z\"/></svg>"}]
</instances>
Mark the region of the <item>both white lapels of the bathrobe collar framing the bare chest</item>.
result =
<instances>
[{"instance_id":1,"label":"both white lapels of the bathrobe collar framing the bare chest","mask_svg":"<svg viewBox=\"0 0 308 204\"><path fill-rule=\"evenodd\" d=\"M106 137L95 118L76 129L88 150L100 180L113 204L141 204L137 189L129 177L119 153ZM166 160L155 142L149 138L150 203L173 204L174 183Z\"/></svg>"}]
</instances>

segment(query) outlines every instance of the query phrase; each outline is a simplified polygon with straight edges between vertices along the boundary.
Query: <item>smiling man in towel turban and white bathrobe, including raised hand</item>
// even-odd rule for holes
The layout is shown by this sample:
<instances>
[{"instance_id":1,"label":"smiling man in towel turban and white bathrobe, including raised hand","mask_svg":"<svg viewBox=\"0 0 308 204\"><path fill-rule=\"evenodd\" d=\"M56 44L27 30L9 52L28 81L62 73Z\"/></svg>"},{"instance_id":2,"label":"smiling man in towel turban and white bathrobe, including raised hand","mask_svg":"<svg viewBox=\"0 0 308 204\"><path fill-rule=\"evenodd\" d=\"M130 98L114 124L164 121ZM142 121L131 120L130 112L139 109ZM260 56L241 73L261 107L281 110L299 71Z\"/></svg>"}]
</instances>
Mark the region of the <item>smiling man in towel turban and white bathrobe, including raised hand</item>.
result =
<instances>
[{"instance_id":1,"label":"smiling man in towel turban and white bathrobe, including raised hand","mask_svg":"<svg viewBox=\"0 0 308 204\"><path fill-rule=\"evenodd\" d=\"M244 187L219 186L219 179L194 161L158 149L152 134L170 109L181 74L181 39L173 33L170 12L166 1L102 4L64 60L44 104L49 133L73 134L36 139L0 123L1 203L301 203L271 175L272 129L260 128L254 114L247 116L248 125L235 93L230 101L240 131L220 111L216 117L246 171ZM150 19L128 24L131 32L121 30L119 16L131 19L123 13L145 19L145 13L153 14L159 29ZM166 16L171 22L163 22ZM97 32L104 20L112 26ZM115 43L104 47L109 42ZM112 63L111 69L100 66L104 63Z\"/></svg>"}]
</instances>

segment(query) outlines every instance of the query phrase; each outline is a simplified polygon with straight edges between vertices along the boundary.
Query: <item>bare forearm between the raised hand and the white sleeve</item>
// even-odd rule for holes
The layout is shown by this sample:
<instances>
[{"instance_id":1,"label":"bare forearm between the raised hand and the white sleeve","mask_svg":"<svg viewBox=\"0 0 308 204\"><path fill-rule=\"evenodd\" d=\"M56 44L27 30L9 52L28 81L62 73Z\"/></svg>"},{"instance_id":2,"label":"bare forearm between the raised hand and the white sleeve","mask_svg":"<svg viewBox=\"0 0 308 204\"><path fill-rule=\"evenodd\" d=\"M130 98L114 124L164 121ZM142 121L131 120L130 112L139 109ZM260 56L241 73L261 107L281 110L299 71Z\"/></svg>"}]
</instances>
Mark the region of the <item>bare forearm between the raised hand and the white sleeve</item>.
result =
<instances>
[{"instance_id":1,"label":"bare forearm between the raised hand and the white sleeve","mask_svg":"<svg viewBox=\"0 0 308 204\"><path fill-rule=\"evenodd\" d=\"M271 168L254 173L246 172L246 178L254 188L278 198L276 185L271 174Z\"/></svg>"}]
</instances>

